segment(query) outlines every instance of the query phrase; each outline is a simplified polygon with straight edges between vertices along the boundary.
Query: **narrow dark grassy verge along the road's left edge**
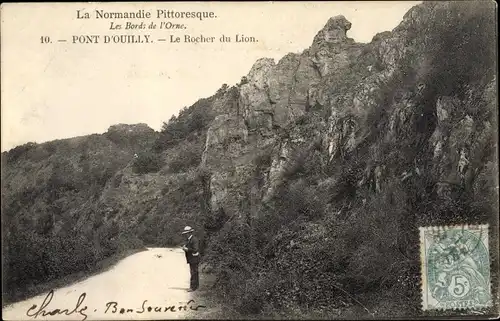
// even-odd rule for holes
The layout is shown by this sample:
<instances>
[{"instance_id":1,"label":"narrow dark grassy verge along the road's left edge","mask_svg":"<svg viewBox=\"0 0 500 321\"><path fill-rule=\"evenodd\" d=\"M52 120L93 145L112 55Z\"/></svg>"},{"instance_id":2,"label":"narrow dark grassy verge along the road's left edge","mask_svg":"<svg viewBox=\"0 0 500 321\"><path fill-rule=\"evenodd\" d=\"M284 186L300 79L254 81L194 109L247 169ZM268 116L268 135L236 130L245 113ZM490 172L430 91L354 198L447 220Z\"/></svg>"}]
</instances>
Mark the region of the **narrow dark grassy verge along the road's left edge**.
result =
<instances>
[{"instance_id":1,"label":"narrow dark grassy verge along the road's left edge","mask_svg":"<svg viewBox=\"0 0 500 321\"><path fill-rule=\"evenodd\" d=\"M121 253L116 253L114 255L111 255L110 257L105 258L104 260L100 261L97 263L92 269L86 270L86 271L81 271L73 274L66 275L62 278L56 279L56 280L51 280L48 282L40 283L40 284L35 284L35 285L30 285L22 289L16 289L15 294L5 298L6 296L3 296L2 298L2 308L9 305L13 304L19 301L26 300L28 298L37 296L39 294L42 294L44 292L48 292L52 289L58 289L62 288L65 286L68 286L70 284L76 283L76 282L81 282L86 280L89 277L92 277L94 275L103 273L111 269L113 266L116 265L119 261L122 259L135 254L139 252L147 251L146 247L143 248L138 248L138 249L130 249Z\"/></svg>"}]
</instances>

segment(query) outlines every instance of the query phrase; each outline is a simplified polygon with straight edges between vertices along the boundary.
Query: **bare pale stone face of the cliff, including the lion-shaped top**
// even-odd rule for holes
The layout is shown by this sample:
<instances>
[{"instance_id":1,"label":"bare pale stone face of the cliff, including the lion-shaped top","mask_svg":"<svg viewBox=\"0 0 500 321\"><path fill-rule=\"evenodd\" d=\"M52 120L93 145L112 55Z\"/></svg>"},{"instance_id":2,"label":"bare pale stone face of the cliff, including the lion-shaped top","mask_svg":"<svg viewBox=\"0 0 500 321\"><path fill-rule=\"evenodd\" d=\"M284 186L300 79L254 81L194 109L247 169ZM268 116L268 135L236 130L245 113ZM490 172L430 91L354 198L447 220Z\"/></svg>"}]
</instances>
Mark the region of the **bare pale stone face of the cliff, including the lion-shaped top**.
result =
<instances>
[{"instance_id":1,"label":"bare pale stone face of the cliff, including the lion-shaped top","mask_svg":"<svg viewBox=\"0 0 500 321\"><path fill-rule=\"evenodd\" d=\"M211 186L214 202L220 203L213 202L212 205L223 206L223 195L226 194L222 191L228 189L223 186L232 184L229 180L246 180L248 168L241 172L242 177L228 178L227 173L229 169L237 168L240 158L248 165L249 151L256 153L267 146L274 149L266 184L272 187L294 147L319 139L330 161L341 158L355 151L360 144L367 143L377 113L384 113L387 124L382 124L385 128L377 137L379 141L372 143L372 149L377 149L381 142L396 143L402 135L422 135L426 146L420 145L419 148L434 150L432 167L442 167L435 170L446 171L440 175L451 179L443 176L444 181L456 181L457 177L465 175L461 172L465 171L465 165L459 163L470 163L469 157L476 154L471 151L472 146L482 144L480 148L484 148L484 144L491 143L479 143L474 139L482 140L492 134L492 118L474 119L473 115L467 114L467 106L477 105L478 95L494 97L496 79L491 78L491 74L475 79L487 87L469 84L465 89L468 98L458 98L456 94L446 92L446 88L436 88L432 83L435 79L429 75L431 60L437 60L436 56L440 54L440 48L431 42L432 33L443 33L444 28L458 23L451 17L460 10L463 9L457 9L454 3L416 6L397 28L376 35L369 44L357 44L348 38L351 23L343 16L336 16L318 32L311 47L302 54L289 54L277 63L266 58L258 60L246 76L246 82L239 86L239 114L223 111L207 134L204 164L217 173L212 177ZM462 14L469 15L458 18L463 21L474 17L474 13ZM441 24L436 22L443 18L449 20ZM432 26L440 29L432 30ZM453 82L453 79L449 80ZM442 92L439 89L443 89ZM488 101L481 113L491 116L494 100L480 99ZM293 128L297 126L295 122L311 115L314 108L323 109L327 117L317 119L313 130L303 135L294 134L297 132ZM450 122L449 109L460 110L460 116L456 117L462 118L454 118L451 120L453 125L445 126ZM447 128L444 136L443 126ZM479 132L474 129L476 126L481 128ZM292 133L292 137L282 138L279 133L283 131ZM474 138L471 136L473 132ZM466 141L461 144L467 147L459 147L458 142L453 142L455 139ZM229 154L221 157L221 146L227 147ZM443 152L443 148L447 151ZM382 167L366 170L375 171L370 175L379 180L388 175L387 171L382 173ZM415 170L418 171L418 165L409 165L401 173L391 174L404 176ZM378 188L380 184L377 181Z\"/></svg>"}]
</instances>

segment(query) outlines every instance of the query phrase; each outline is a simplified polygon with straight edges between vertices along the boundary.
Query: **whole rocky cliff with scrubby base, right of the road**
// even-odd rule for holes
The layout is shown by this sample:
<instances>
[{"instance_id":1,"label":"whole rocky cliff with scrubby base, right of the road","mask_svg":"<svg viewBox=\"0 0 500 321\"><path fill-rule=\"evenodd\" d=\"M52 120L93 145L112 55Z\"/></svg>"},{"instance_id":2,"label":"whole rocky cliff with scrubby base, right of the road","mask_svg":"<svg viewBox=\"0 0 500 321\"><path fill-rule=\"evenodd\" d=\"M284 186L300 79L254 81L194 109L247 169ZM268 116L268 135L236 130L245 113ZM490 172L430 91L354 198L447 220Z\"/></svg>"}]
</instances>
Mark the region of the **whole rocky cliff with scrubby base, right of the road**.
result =
<instances>
[{"instance_id":1,"label":"whole rocky cliff with scrubby base, right of the road","mask_svg":"<svg viewBox=\"0 0 500 321\"><path fill-rule=\"evenodd\" d=\"M254 64L236 87L238 112L219 109L209 126L201 163L209 215L226 222L209 258L222 279L228 265L252 266L231 275L255 292L225 288L242 310L262 300L320 306L338 299L325 292L342 280L354 293L413 298L398 301L400 315L418 315L408 263L418 261L418 227L498 226L492 9L426 2L368 44L349 39L337 16L301 54ZM276 281L283 273L320 282L321 295Z\"/></svg>"}]
</instances>

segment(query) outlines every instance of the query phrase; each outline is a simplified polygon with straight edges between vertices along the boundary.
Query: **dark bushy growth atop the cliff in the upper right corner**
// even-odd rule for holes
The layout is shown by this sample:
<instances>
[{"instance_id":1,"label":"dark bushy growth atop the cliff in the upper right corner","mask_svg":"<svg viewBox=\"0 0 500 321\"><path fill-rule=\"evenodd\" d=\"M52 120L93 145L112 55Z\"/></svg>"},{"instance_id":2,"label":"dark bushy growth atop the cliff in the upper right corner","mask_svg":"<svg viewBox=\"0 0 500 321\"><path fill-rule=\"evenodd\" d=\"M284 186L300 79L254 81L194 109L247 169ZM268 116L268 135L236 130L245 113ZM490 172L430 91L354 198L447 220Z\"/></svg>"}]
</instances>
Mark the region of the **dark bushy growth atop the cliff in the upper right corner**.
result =
<instances>
[{"instance_id":1,"label":"dark bushy growth atop the cliff in the upper right corner","mask_svg":"<svg viewBox=\"0 0 500 321\"><path fill-rule=\"evenodd\" d=\"M494 6L488 2L471 8L454 3L438 10L420 32L428 36L432 60L423 75L426 90L443 96L464 94L465 87L484 76L492 77L496 65Z\"/></svg>"}]
</instances>

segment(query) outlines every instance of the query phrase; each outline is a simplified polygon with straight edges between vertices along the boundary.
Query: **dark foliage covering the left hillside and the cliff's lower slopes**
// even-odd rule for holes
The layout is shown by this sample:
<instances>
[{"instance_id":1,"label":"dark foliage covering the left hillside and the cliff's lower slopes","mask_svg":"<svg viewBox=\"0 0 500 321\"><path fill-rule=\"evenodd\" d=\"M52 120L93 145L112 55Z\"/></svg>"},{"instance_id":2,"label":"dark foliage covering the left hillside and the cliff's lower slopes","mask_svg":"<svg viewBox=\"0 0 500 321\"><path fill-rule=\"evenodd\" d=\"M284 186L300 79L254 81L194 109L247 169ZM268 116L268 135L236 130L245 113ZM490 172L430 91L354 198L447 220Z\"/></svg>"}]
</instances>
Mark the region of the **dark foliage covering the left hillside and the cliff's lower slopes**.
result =
<instances>
[{"instance_id":1,"label":"dark foliage covering the left hillside and the cliff's lower slopes","mask_svg":"<svg viewBox=\"0 0 500 321\"><path fill-rule=\"evenodd\" d=\"M424 28L405 26L406 38L398 41L408 50L389 79L374 88L374 106L363 110L365 119L332 120L342 95L357 90L370 73L386 71L375 45L367 45L347 74L324 80L325 90L339 99L308 106L305 115L275 133L273 146L258 146L252 164L239 164L252 172L229 191L243 200L238 206L211 208L213 173L202 164L216 115L212 104L224 97L227 85L164 123L154 144L112 132L107 138L118 150L94 137L81 150L57 142L2 155L32 170L22 183L21 176L8 173L13 176L5 190L15 192L2 195L7 294L91 269L143 243L178 245L178 231L191 225L200 232L204 263L217 276L214 293L244 314L419 313L418 227L495 224L496 97L485 94L494 92L489 86L496 69L492 12L489 5L454 3L436 10ZM231 91L248 82L243 77ZM329 121L341 124L339 131L359 122L362 139L331 155L323 141L328 126L311 134ZM297 129L304 139L287 156L282 179L266 200L256 197L268 187L263 182L279 157L277 146L289 143ZM438 139L449 157L436 156ZM232 145L221 145L222 159ZM65 158L70 151L77 156ZM468 163L457 170L463 151ZM42 160L47 164L33 165ZM492 245L491 252L498 249Z\"/></svg>"}]
</instances>

